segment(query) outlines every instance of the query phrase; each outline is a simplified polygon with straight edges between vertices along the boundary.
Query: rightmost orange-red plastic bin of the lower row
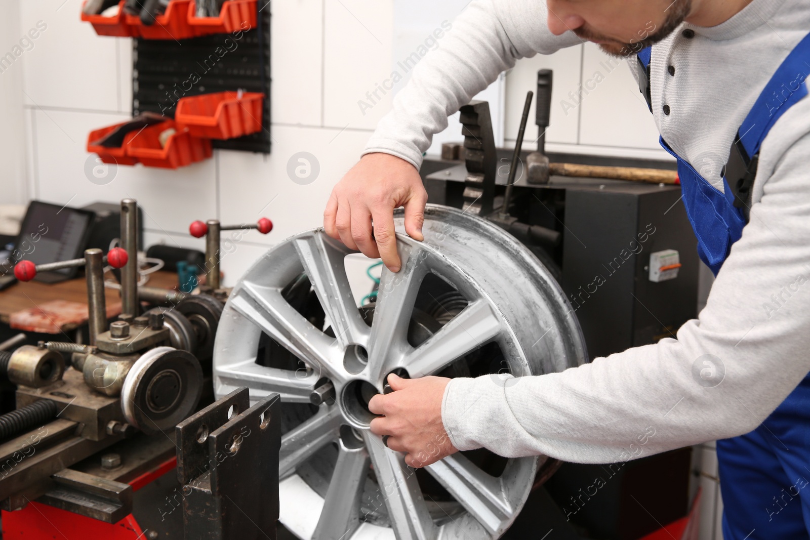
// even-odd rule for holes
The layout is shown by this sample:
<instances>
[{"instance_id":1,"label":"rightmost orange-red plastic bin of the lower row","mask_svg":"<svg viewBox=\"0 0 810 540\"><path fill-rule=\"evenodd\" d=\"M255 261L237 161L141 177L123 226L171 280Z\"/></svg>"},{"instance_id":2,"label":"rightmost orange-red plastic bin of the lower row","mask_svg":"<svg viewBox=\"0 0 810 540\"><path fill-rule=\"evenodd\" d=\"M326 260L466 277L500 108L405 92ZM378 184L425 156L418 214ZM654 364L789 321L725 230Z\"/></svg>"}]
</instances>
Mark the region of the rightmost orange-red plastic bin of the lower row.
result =
<instances>
[{"instance_id":1,"label":"rightmost orange-red plastic bin of the lower row","mask_svg":"<svg viewBox=\"0 0 810 540\"><path fill-rule=\"evenodd\" d=\"M174 119L194 137L235 138L262 129L262 92L222 91L177 102Z\"/></svg>"}]
</instances>

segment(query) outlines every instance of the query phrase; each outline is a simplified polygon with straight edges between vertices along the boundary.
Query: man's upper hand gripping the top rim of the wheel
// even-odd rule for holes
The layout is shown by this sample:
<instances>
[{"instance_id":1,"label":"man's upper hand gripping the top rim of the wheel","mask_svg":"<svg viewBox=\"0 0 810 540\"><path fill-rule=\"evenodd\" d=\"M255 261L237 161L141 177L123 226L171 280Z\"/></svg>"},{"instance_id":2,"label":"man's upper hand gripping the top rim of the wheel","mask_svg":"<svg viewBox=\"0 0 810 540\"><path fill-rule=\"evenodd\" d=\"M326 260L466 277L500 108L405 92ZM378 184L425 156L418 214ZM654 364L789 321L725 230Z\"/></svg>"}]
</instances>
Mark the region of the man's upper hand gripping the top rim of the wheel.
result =
<instances>
[{"instance_id":1,"label":"man's upper hand gripping the top rim of the wheel","mask_svg":"<svg viewBox=\"0 0 810 540\"><path fill-rule=\"evenodd\" d=\"M398 272L402 263L394 235L394 208L405 206L405 232L421 241L426 202L428 193L413 165L390 154L366 154L332 189L323 228L347 248L373 259L382 257L389 270Z\"/></svg>"}]
</instances>

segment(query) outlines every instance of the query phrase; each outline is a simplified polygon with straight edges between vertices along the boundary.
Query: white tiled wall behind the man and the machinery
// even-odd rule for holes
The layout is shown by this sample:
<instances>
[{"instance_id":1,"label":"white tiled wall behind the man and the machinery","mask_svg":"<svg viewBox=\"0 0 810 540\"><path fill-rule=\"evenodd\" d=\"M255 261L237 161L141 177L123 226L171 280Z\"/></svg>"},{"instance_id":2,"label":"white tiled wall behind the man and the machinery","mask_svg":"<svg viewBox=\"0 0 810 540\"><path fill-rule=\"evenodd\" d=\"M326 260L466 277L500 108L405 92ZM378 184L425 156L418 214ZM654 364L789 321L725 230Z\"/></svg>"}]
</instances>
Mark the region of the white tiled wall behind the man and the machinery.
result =
<instances>
[{"instance_id":1,"label":"white tiled wall behind the man and the machinery","mask_svg":"<svg viewBox=\"0 0 810 540\"><path fill-rule=\"evenodd\" d=\"M87 133L129 116L131 42L96 36L79 21L79 0L11 2L14 16L3 19L0 50L11 50L37 25L45 29L0 74L6 123L0 135L0 153L6 157L0 159L0 202L40 198L80 206L133 197L146 213L147 238L197 246L200 241L187 234L194 219L236 223L259 214L271 217L275 230L268 236L246 236L245 246L253 249L245 253L318 226L331 186L356 161L390 108L393 92L365 114L357 102L390 75L396 36L415 32L415 21L403 16L399 28L396 5L396 0L273 3L266 8L273 11L271 155L215 151L213 159L177 171L121 166L113 181L96 185L85 172ZM434 15L452 14L439 10ZM514 139L536 70L550 67L555 86L549 149L661 153L655 150L654 125L625 66L617 66L581 105L563 106L563 100L579 93L583 77L602 69L603 59L598 49L586 45L518 62L503 85L506 144ZM530 124L527 147L535 138ZM309 185L298 185L287 174L288 159L299 151L315 155L320 165L317 180ZM226 283L233 283L250 257L229 258L224 261Z\"/></svg>"}]
</instances>

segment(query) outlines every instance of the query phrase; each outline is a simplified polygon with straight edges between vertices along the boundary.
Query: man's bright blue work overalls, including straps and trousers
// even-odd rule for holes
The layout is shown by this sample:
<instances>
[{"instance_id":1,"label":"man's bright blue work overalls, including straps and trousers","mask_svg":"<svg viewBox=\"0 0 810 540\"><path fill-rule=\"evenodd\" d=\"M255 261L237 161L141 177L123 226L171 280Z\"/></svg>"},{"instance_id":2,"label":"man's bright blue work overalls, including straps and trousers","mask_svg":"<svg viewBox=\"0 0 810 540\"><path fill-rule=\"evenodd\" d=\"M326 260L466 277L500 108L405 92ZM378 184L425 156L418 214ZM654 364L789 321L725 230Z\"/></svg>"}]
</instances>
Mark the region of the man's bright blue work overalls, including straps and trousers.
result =
<instances>
[{"instance_id":1,"label":"man's bright blue work overalls, including straps and trousers","mask_svg":"<svg viewBox=\"0 0 810 540\"><path fill-rule=\"evenodd\" d=\"M637 54L639 87L652 111L651 49ZM762 141L774 122L808 94L810 34L799 42L745 118L723 168L724 193L660 139L678 160L686 214L701 260L717 275L748 222ZM724 540L810 538L810 375L757 429L717 441Z\"/></svg>"}]
</instances>

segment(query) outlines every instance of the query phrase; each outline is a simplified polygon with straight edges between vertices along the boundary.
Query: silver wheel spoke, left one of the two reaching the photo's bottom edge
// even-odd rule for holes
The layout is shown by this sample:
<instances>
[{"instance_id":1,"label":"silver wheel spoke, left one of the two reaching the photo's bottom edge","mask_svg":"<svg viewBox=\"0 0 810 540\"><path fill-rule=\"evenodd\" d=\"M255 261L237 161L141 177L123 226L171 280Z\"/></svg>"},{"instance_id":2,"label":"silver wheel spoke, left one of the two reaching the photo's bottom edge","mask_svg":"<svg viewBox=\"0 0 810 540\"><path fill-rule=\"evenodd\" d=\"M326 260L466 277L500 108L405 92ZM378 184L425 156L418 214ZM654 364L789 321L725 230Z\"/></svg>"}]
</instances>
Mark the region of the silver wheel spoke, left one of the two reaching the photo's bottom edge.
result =
<instances>
[{"instance_id":1,"label":"silver wheel spoke, left one of the two reaching the photo's bottom edge","mask_svg":"<svg viewBox=\"0 0 810 540\"><path fill-rule=\"evenodd\" d=\"M346 540L360 526L360 497L369 473L364 448L347 449L338 443L338 461L326 491L323 510L313 540Z\"/></svg>"}]
</instances>

